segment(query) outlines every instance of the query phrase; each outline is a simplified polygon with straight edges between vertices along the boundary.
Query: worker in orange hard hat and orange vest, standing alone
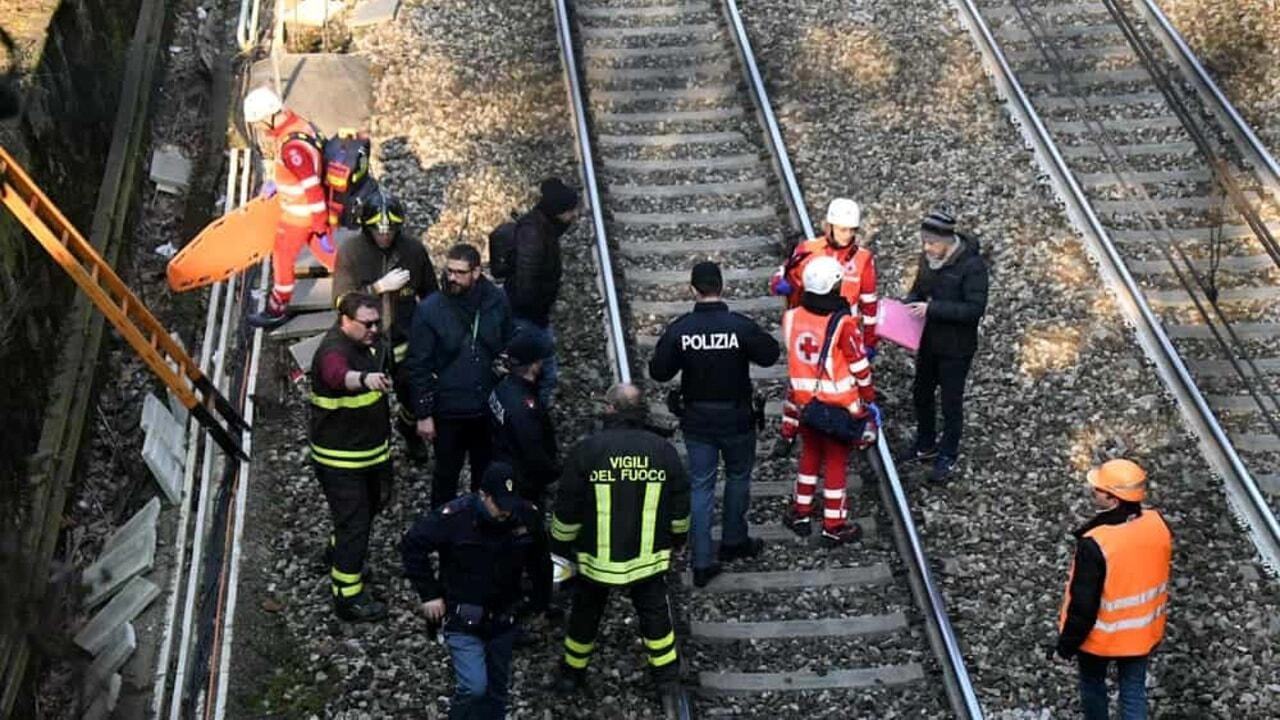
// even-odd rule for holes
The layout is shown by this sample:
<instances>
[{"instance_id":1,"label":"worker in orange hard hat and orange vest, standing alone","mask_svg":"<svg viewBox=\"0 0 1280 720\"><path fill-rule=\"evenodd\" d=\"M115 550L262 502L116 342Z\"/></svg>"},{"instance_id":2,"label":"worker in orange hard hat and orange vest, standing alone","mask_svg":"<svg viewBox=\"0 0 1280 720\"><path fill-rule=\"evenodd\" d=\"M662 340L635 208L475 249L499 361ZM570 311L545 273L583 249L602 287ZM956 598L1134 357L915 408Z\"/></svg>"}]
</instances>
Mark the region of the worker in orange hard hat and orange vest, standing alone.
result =
<instances>
[{"instance_id":1,"label":"worker in orange hard hat and orange vest, standing alone","mask_svg":"<svg viewBox=\"0 0 1280 720\"><path fill-rule=\"evenodd\" d=\"M1075 559L1059 612L1056 653L1075 656L1085 720L1106 720L1107 665L1116 664L1120 715L1147 716L1147 662L1165 635L1172 533L1143 507L1147 473L1132 460L1089 470L1100 512L1075 530Z\"/></svg>"}]
</instances>

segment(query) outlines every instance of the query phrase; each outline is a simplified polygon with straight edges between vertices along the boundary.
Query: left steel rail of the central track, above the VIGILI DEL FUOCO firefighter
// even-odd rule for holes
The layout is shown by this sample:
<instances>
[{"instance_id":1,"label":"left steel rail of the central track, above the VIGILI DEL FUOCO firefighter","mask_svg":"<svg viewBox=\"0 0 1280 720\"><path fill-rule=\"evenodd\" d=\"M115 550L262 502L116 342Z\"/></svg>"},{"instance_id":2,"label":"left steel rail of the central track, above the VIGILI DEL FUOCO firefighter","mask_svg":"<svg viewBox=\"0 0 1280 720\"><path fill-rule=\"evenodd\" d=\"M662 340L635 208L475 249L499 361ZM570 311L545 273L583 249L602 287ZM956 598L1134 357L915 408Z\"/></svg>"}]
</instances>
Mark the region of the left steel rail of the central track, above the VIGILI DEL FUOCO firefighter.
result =
<instances>
[{"instance_id":1,"label":"left steel rail of the central track, above the VIGILI DEL FUOCO firefighter","mask_svg":"<svg viewBox=\"0 0 1280 720\"><path fill-rule=\"evenodd\" d=\"M564 0L552 0L556 8L556 37L561 47L561 65L564 68L564 87L568 92L570 109L573 113L573 135L577 136L577 159L582 168L582 191L591 208L591 227L595 231L596 263L600 279L604 283L602 295L608 305L607 320L609 346L614 360L614 378L621 383L631 382L631 361L627 357L627 338L623 333L622 307L618 304L617 282L613 278L613 261L609 255L609 238L604 232L604 211L600 209L600 190L595 181L595 156L591 152L591 135L586 126L586 104L582 100L582 83L579 79L577 60L573 53L573 33L570 29L568 8Z\"/></svg>"}]
</instances>

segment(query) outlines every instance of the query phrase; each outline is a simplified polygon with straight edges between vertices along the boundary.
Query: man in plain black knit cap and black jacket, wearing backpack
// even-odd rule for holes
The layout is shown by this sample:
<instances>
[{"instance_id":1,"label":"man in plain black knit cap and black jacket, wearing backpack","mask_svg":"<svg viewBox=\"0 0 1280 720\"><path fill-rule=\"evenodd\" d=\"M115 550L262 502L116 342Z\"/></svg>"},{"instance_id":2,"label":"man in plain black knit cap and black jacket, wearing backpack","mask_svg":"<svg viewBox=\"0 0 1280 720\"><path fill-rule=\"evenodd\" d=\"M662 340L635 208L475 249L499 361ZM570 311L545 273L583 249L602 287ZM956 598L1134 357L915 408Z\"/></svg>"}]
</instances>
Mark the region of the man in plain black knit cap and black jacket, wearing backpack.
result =
<instances>
[{"instance_id":1,"label":"man in plain black knit cap and black jacket, wearing backpack","mask_svg":"<svg viewBox=\"0 0 1280 720\"><path fill-rule=\"evenodd\" d=\"M541 334L556 346L552 331L552 307L559 296L559 238L577 219L577 191L559 178L547 178L539 187L541 197L532 210L516 222L515 263L503 290L511 301L511 315L517 333ZM543 363L538 378L538 400L550 407L552 393L559 378L559 366L552 355Z\"/></svg>"}]
</instances>

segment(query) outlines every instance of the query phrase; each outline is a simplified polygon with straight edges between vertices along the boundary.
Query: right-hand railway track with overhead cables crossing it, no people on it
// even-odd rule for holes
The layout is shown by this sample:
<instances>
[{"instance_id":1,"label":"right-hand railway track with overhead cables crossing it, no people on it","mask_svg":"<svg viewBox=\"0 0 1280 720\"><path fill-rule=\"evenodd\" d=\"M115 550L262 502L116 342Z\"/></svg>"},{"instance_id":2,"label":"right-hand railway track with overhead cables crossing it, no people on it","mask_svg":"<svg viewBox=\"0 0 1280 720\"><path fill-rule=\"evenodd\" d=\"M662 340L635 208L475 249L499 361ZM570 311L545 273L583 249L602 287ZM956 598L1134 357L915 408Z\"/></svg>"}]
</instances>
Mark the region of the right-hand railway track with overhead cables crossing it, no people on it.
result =
<instances>
[{"instance_id":1,"label":"right-hand railway track with overhead cables crossing it, no people on it","mask_svg":"<svg viewBox=\"0 0 1280 720\"><path fill-rule=\"evenodd\" d=\"M957 6L1275 568L1275 160L1151 0Z\"/></svg>"}]
</instances>

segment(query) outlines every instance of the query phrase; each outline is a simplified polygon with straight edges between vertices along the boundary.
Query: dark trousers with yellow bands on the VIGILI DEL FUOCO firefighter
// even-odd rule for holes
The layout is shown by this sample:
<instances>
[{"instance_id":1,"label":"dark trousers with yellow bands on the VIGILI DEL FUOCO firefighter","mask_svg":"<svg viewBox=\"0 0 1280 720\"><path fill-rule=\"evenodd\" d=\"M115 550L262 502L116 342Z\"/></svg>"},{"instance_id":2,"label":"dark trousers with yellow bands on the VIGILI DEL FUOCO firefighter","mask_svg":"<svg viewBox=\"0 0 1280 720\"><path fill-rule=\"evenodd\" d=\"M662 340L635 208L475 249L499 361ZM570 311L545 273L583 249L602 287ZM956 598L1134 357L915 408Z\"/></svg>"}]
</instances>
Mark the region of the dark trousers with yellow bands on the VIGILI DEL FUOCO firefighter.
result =
<instances>
[{"instance_id":1,"label":"dark trousers with yellow bands on the VIGILI DEL FUOCO firefighter","mask_svg":"<svg viewBox=\"0 0 1280 720\"><path fill-rule=\"evenodd\" d=\"M626 589L631 594L631 605L640 616L640 639L644 641L649 670L655 683L675 683L680 679L680 664L676 662L676 633L671 621L671 601L667 597L664 573L650 575L626 585L607 585L588 578L576 580L573 607L568 614L568 628L564 633L564 665L573 670L585 670L595 651L595 633L609 602L609 591Z\"/></svg>"}]
</instances>

